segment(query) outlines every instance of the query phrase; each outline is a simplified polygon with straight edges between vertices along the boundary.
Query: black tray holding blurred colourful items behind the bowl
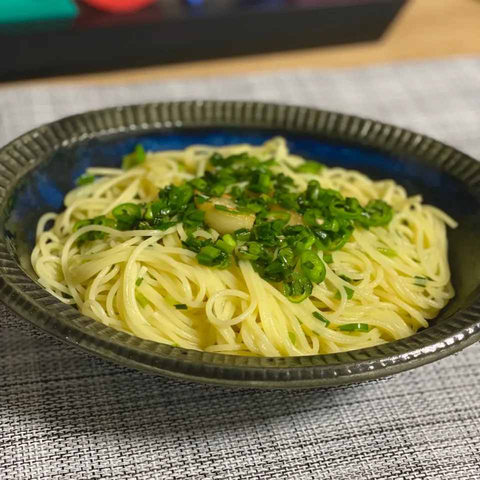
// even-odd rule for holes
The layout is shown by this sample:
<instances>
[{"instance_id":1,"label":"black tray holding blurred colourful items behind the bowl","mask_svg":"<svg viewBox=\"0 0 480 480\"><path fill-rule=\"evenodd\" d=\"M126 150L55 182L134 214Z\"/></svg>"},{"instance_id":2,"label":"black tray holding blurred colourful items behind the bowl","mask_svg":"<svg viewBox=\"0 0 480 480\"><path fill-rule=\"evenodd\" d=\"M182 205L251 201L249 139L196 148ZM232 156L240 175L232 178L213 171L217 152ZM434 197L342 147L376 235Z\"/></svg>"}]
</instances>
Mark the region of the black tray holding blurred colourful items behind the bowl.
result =
<instances>
[{"instance_id":1,"label":"black tray holding blurred colourful items behind the bowl","mask_svg":"<svg viewBox=\"0 0 480 480\"><path fill-rule=\"evenodd\" d=\"M0 25L0 81L374 40L406 0L164 0Z\"/></svg>"}]
</instances>

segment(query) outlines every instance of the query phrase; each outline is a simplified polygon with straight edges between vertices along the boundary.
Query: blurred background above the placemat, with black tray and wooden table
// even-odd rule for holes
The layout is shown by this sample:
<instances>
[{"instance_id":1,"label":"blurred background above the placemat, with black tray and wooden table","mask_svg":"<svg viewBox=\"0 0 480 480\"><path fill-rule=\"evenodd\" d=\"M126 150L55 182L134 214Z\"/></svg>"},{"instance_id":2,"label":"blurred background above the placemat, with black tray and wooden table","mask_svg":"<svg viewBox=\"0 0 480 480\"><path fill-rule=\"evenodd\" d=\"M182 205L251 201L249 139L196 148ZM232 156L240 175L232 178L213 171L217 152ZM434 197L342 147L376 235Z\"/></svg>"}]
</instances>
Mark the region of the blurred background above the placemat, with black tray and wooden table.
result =
<instances>
[{"instance_id":1,"label":"blurred background above the placemat, with black tray and wooden table","mask_svg":"<svg viewBox=\"0 0 480 480\"><path fill-rule=\"evenodd\" d=\"M479 25L476 0L1 0L0 81L123 70L95 77L115 81L478 53Z\"/></svg>"}]
</instances>

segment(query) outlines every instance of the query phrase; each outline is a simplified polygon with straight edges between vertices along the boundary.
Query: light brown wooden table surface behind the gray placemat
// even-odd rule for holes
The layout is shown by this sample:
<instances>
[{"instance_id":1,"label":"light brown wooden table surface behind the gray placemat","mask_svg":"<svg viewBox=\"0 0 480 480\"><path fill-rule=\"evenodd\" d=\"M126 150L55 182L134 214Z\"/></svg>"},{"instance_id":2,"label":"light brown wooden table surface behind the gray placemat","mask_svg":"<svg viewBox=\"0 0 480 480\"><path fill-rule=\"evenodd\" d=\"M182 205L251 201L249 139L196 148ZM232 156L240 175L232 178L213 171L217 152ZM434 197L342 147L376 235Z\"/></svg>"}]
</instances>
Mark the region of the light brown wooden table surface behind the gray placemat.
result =
<instances>
[{"instance_id":1,"label":"light brown wooden table surface behind the gray placemat","mask_svg":"<svg viewBox=\"0 0 480 480\"><path fill-rule=\"evenodd\" d=\"M480 54L480 0L410 0L377 42L15 83L118 83L272 69L358 66L458 54ZM8 85L11 83L2 86Z\"/></svg>"}]
</instances>

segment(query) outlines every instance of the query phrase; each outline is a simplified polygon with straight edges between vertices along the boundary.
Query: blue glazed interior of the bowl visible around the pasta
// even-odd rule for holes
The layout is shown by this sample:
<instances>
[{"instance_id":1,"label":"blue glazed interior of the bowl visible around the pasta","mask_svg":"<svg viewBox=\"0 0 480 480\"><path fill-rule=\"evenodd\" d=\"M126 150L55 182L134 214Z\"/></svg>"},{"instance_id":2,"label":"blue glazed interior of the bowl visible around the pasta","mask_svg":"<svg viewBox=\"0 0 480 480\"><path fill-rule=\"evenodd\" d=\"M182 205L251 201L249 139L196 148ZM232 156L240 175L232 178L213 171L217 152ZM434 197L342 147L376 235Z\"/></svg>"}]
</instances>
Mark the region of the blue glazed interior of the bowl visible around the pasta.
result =
<instances>
[{"instance_id":1,"label":"blue glazed interior of the bowl visible around the pasta","mask_svg":"<svg viewBox=\"0 0 480 480\"><path fill-rule=\"evenodd\" d=\"M141 136L122 134L86 140L64 147L30 170L13 192L4 234L7 246L22 269L35 279L30 253L35 242L35 228L40 215L60 211L64 195L75 186L75 179L88 166L118 167L124 154L141 143L146 150L183 149L191 144L226 145L260 144L278 130L191 129L151 131ZM281 134L281 132L280 132ZM328 166L359 170L373 179L392 178L408 194L422 194L424 202L433 204L459 222L448 232L449 262L456 296L440 312L437 323L469 303L480 285L480 238L478 204L464 184L446 172L413 157L395 156L379 150L301 134L285 133L290 150Z\"/></svg>"}]
</instances>

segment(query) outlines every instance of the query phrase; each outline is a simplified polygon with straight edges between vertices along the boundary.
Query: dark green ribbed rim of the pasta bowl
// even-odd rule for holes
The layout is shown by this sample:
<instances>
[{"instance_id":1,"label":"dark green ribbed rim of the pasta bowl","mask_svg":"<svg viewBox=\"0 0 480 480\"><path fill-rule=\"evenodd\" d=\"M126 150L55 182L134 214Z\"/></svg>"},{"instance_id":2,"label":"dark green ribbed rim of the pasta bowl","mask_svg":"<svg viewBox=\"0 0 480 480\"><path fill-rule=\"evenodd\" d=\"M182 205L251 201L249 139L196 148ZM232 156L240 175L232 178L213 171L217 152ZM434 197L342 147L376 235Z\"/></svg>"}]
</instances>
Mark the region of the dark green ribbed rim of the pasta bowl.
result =
<instances>
[{"instance_id":1,"label":"dark green ribbed rim of the pasta bowl","mask_svg":"<svg viewBox=\"0 0 480 480\"><path fill-rule=\"evenodd\" d=\"M171 347L119 332L65 305L30 278L5 244L8 199L27 171L59 147L122 132L191 127L268 128L408 154L462 181L480 199L480 163L427 136L371 119L301 106L247 101L182 101L106 108L40 126L0 150L0 298L66 343L122 365L165 376L247 387L313 387L391 375L480 339L480 301L415 335L344 353L259 358Z\"/></svg>"}]
</instances>

